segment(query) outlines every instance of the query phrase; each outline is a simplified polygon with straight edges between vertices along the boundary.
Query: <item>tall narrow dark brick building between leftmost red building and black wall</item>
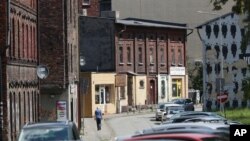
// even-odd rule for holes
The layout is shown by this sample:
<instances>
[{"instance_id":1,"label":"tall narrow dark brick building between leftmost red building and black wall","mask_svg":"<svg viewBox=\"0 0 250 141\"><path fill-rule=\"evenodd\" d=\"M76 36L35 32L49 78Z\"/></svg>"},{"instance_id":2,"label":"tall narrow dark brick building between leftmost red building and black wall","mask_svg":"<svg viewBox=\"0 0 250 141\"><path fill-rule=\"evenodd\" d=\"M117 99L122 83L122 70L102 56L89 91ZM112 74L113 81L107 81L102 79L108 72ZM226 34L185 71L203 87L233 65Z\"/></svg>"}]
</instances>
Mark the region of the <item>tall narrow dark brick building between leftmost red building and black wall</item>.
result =
<instances>
[{"instance_id":1,"label":"tall narrow dark brick building between leftmost red building and black wall","mask_svg":"<svg viewBox=\"0 0 250 141\"><path fill-rule=\"evenodd\" d=\"M77 0L39 0L39 61L49 69L40 81L41 120L75 121L78 126L78 14ZM66 102L63 117L58 102Z\"/></svg>"}]
</instances>

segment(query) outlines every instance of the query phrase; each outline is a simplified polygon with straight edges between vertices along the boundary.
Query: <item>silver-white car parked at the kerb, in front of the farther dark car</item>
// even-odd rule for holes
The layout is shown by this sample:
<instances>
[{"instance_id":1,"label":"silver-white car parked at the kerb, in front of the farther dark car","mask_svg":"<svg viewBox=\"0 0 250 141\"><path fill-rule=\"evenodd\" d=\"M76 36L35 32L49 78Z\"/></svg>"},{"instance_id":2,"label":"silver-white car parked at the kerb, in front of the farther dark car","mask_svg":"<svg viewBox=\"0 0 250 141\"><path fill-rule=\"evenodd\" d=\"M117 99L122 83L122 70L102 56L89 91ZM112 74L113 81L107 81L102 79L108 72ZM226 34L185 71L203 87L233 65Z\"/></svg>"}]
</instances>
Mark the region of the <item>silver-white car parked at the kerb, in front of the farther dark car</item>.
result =
<instances>
[{"instance_id":1,"label":"silver-white car parked at the kerb, in front of the farther dark car","mask_svg":"<svg viewBox=\"0 0 250 141\"><path fill-rule=\"evenodd\" d=\"M183 108L182 105L174 104L172 102L160 103L160 104L158 104L158 107L156 109L155 119L156 120L166 120L167 118L169 118L169 117L167 117L168 115L178 113L177 109L181 110L182 108Z\"/></svg>"}]
</instances>

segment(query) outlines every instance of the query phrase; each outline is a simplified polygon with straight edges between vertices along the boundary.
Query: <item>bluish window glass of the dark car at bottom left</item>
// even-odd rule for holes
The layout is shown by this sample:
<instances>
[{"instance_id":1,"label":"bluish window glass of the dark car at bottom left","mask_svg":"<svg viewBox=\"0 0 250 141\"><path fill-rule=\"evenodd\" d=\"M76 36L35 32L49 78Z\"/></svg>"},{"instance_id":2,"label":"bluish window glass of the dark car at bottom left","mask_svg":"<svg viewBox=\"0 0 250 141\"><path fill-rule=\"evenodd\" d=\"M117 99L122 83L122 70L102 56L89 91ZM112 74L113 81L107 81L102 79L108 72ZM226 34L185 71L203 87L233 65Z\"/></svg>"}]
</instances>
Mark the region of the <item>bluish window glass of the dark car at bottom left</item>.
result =
<instances>
[{"instance_id":1,"label":"bluish window glass of the dark car at bottom left","mask_svg":"<svg viewBox=\"0 0 250 141\"><path fill-rule=\"evenodd\" d=\"M19 141L68 140L67 127L46 127L23 129Z\"/></svg>"}]
</instances>

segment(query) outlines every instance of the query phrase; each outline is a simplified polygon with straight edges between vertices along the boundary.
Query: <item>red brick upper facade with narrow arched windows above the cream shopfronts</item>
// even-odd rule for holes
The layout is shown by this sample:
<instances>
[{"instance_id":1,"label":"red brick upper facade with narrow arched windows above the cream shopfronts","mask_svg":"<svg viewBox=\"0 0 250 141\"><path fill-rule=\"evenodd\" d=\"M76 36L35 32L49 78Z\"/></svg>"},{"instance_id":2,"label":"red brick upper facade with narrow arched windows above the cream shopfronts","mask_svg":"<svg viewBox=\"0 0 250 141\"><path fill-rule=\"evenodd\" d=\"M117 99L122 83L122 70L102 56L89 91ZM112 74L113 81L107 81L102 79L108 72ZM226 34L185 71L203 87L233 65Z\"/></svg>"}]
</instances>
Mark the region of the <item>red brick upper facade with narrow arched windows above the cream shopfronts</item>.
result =
<instances>
[{"instance_id":1,"label":"red brick upper facade with narrow arched windows above the cream shopfronts","mask_svg":"<svg viewBox=\"0 0 250 141\"><path fill-rule=\"evenodd\" d=\"M119 32L119 31L118 31ZM185 66L185 32L167 29L141 29L127 27L116 37L116 70L141 74L167 74L171 66ZM130 39L129 39L130 38ZM132 64L128 64L127 47L132 46ZM123 47L123 63L120 63L119 47ZM142 62L139 62L139 47L142 48ZM150 63L152 49L153 63ZM171 49L175 52L175 65L172 65ZM179 63L181 50L182 63ZM162 56L163 55L163 56ZM161 57L162 56L162 57Z\"/></svg>"}]
</instances>

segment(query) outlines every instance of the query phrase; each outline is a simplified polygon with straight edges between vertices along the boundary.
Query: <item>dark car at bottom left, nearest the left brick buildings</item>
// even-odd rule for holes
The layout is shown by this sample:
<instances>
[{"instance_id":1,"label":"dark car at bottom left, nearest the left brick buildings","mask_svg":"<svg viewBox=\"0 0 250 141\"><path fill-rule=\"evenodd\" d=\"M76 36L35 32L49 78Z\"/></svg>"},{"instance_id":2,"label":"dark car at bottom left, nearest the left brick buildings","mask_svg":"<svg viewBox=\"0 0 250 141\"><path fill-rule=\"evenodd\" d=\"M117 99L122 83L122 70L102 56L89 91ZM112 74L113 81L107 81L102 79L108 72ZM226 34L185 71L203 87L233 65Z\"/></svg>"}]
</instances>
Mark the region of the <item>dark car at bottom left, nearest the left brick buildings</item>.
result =
<instances>
[{"instance_id":1,"label":"dark car at bottom left, nearest the left brick buildings","mask_svg":"<svg viewBox=\"0 0 250 141\"><path fill-rule=\"evenodd\" d=\"M23 126L18 138L18 141L58 140L81 140L74 122L53 121L28 123Z\"/></svg>"}]
</instances>

